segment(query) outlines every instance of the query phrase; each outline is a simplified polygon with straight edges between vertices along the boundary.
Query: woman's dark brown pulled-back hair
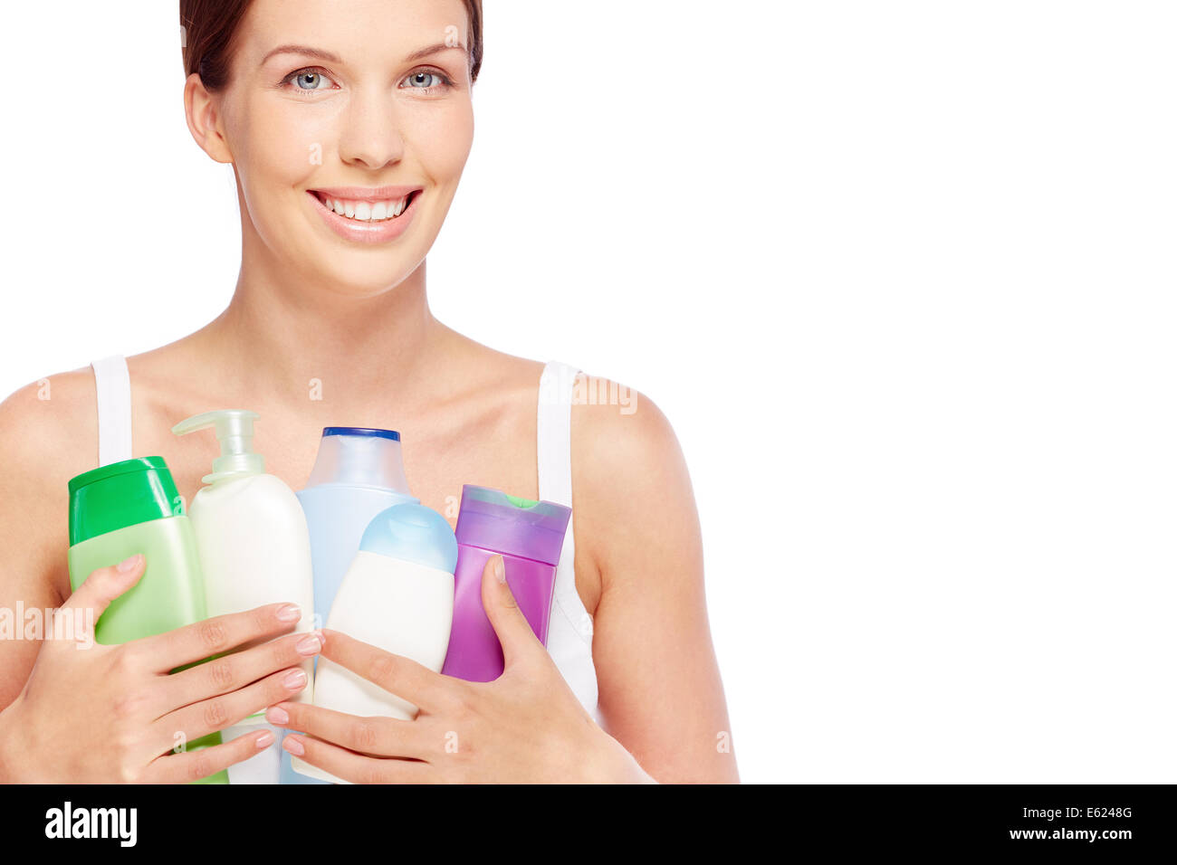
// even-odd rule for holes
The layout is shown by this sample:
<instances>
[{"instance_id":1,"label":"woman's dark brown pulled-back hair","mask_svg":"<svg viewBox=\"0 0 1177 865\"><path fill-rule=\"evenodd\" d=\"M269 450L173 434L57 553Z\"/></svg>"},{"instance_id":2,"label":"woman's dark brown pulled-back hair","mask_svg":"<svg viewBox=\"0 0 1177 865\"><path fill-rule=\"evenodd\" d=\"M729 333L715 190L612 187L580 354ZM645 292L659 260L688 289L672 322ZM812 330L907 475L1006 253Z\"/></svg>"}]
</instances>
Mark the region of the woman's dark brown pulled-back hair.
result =
<instances>
[{"instance_id":1,"label":"woman's dark brown pulled-back hair","mask_svg":"<svg viewBox=\"0 0 1177 865\"><path fill-rule=\"evenodd\" d=\"M184 75L193 72L210 91L228 84L233 59L233 35L252 0L180 0L184 27ZM483 67L483 0L465 0L470 18L470 80L478 80Z\"/></svg>"}]
</instances>

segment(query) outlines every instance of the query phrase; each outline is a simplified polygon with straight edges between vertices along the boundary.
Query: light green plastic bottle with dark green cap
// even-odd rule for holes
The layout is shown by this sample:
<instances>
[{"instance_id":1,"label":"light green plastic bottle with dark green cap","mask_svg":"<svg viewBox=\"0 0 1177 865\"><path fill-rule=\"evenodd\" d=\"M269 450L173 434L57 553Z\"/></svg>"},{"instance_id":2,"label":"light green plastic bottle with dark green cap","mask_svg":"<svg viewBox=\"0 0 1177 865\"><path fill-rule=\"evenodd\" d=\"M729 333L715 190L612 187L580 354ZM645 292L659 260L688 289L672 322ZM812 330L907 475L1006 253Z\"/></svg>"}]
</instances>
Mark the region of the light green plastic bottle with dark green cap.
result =
<instances>
[{"instance_id":1,"label":"light green plastic bottle with dark green cap","mask_svg":"<svg viewBox=\"0 0 1177 865\"><path fill-rule=\"evenodd\" d=\"M135 553L144 554L146 571L99 617L94 639L102 645L154 637L206 618L197 539L162 457L112 463L69 481L71 587L77 591L94 570ZM214 732L186 748L220 743ZM228 774L220 771L195 783L228 784Z\"/></svg>"}]
</instances>

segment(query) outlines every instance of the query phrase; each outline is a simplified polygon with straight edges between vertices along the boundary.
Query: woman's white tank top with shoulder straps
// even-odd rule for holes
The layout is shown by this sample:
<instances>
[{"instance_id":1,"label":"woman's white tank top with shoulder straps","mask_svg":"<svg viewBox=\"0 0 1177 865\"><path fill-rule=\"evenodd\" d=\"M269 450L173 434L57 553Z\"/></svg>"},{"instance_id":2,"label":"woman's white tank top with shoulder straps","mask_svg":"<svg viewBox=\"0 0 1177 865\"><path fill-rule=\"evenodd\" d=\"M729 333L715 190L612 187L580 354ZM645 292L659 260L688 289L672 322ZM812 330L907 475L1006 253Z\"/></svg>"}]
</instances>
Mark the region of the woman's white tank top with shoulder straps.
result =
<instances>
[{"instance_id":1,"label":"woman's white tank top with shoulder straps","mask_svg":"<svg viewBox=\"0 0 1177 865\"><path fill-rule=\"evenodd\" d=\"M112 354L93 361L91 367L98 388L98 464L105 466L132 459L135 454L131 443L131 374L126 358ZM539 377L536 443L539 498L567 507L572 507L572 394L577 373L576 367L553 361ZM600 724L597 670L592 663L593 623L577 592L574 558L576 539L572 520L568 520L560 564L556 568L547 653L577 699Z\"/></svg>"}]
</instances>

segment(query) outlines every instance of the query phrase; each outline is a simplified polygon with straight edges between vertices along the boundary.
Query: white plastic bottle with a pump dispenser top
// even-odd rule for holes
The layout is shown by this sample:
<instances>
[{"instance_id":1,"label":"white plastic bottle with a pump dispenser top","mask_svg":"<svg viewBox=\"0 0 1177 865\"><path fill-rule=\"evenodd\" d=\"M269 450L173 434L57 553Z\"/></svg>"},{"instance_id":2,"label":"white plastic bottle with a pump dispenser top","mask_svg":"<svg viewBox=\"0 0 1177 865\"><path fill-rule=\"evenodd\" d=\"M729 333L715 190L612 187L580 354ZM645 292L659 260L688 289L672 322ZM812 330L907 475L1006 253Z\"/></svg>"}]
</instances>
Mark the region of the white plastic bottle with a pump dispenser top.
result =
<instances>
[{"instance_id":1,"label":"white plastic bottle with a pump dispenser top","mask_svg":"<svg viewBox=\"0 0 1177 865\"><path fill-rule=\"evenodd\" d=\"M227 408L204 412L172 427L177 435L212 428L220 441L220 457L212 474L188 508L205 575L208 616L292 601L302 611L295 631L311 631L314 621L314 586L311 572L311 539L306 517L294 491L273 474L265 459L253 452L257 412ZM310 699L313 661L301 665L307 687L292 701ZM226 741L248 733L257 725L274 733L275 741L255 757L230 766L231 784L278 784L280 728L266 724L259 711L240 724L226 727Z\"/></svg>"}]
</instances>

